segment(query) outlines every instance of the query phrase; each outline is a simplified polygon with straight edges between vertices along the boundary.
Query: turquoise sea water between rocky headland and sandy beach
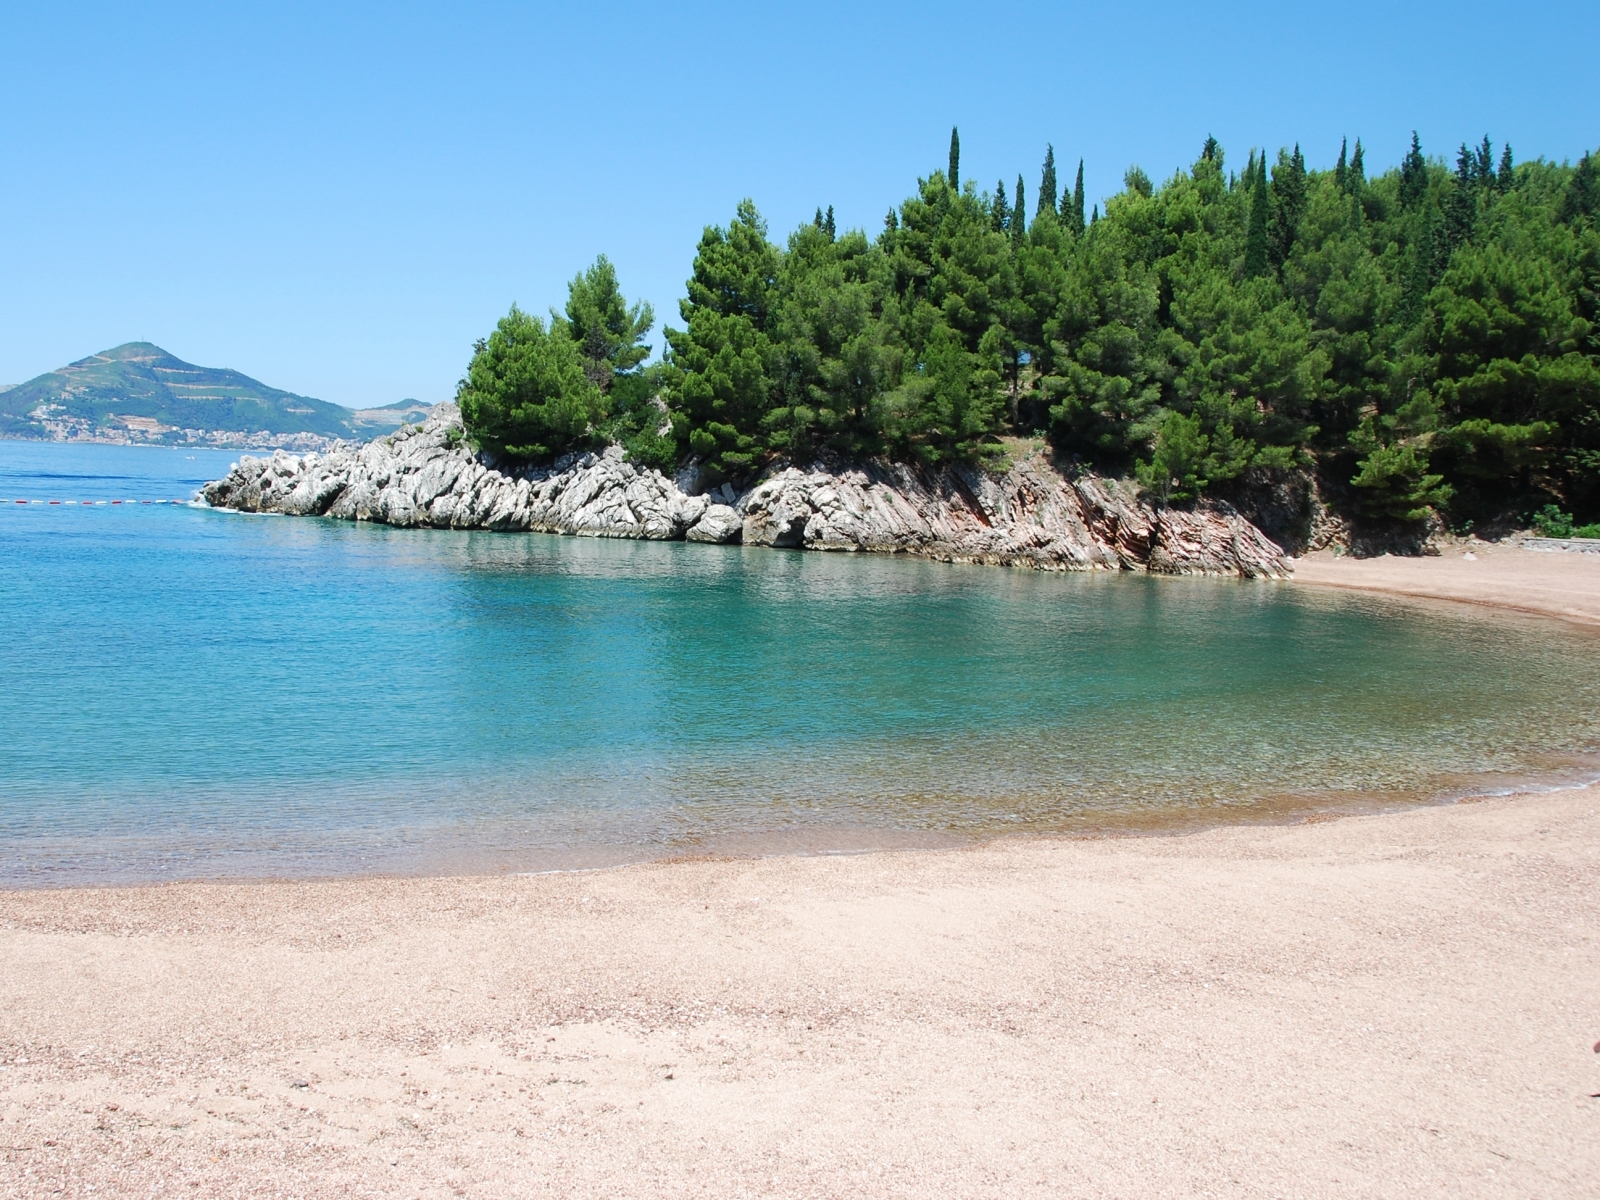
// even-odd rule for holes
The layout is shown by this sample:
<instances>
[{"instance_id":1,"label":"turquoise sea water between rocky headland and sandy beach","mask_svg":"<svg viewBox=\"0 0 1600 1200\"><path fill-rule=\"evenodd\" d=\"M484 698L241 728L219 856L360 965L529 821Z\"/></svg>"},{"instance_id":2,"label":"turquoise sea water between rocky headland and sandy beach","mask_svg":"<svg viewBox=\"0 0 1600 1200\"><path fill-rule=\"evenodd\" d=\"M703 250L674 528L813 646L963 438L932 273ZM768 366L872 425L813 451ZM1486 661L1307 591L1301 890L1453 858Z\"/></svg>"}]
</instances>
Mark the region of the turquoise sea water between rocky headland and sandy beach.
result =
<instances>
[{"instance_id":1,"label":"turquoise sea water between rocky headland and sandy beach","mask_svg":"<svg viewBox=\"0 0 1600 1200\"><path fill-rule=\"evenodd\" d=\"M194 454L194 458L190 458ZM0 885L539 869L1587 778L1600 638L1294 586L174 506L0 442Z\"/></svg>"}]
</instances>

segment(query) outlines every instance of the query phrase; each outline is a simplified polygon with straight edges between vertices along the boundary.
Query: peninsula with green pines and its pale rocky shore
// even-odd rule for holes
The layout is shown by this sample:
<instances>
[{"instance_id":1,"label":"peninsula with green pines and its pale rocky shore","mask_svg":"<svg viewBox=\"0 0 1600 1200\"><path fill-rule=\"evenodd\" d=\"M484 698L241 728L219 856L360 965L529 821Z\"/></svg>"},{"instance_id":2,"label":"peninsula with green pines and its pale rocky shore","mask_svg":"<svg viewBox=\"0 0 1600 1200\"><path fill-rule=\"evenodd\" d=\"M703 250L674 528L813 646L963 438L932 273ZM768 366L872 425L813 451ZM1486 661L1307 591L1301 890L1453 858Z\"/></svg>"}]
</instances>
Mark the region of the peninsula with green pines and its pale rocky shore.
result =
<instances>
[{"instance_id":1,"label":"peninsula with green pines and its pale rocky shore","mask_svg":"<svg viewBox=\"0 0 1600 1200\"><path fill-rule=\"evenodd\" d=\"M512 307L477 342L461 424L430 429L413 467L402 430L371 462L248 459L208 494L614 536L685 536L685 498L712 496L726 515L702 541L738 539L742 522L768 544L1245 574L1286 566L1254 528L1238 541L1240 518L1290 554L1414 552L1446 530L1530 523L1597 536L1597 205L1590 155L1517 163L1485 138L1451 168L1413 134L1371 178L1360 141L1330 170L1298 146L1230 170L1206 139L1189 170L1157 186L1130 168L1085 214L1082 162L1062 186L1046 147L1032 200L1021 176L982 190L952 131L946 170L875 235L818 206L779 246L749 200L707 227L659 362L654 314L602 256L565 309ZM432 475L419 493L414 472L446 453L501 482L462 493L478 477L458 470L454 493ZM606 485L614 504L584 493L597 462L632 472ZM646 475L677 515L627 507ZM560 501L579 477L579 499ZM749 506L781 477L811 482L774 534ZM1035 528L1045 510L1053 531ZM1211 550L1162 549L1179 514Z\"/></svg>"}]
</instances>

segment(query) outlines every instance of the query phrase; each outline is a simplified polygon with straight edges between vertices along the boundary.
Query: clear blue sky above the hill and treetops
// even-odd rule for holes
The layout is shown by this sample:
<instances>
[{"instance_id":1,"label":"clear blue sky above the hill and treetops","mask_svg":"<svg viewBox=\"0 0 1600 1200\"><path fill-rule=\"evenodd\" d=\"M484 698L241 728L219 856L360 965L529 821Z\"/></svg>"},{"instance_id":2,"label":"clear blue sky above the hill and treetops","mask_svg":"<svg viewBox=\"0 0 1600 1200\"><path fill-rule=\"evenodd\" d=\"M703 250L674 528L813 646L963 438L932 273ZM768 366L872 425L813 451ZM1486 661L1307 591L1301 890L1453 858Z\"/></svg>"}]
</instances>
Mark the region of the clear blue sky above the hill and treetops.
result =
<instances>
[{"instance_id":1,"label":"clear blue sky above the hill and treetops","mask_svg":"<svg viewBox=\"0 0 1600 1200\"><path fill-rule=\"evenodd\" d=\"M594 11L584 11L592 8ZM475 338L606 253L677 320L752 197L877 230L963 176L1091 198L1416 128L1600 144L1589 3L21 5L0 21L0 382L147 339L346 405L453 394Z\"/></svg>"}]
</instances>

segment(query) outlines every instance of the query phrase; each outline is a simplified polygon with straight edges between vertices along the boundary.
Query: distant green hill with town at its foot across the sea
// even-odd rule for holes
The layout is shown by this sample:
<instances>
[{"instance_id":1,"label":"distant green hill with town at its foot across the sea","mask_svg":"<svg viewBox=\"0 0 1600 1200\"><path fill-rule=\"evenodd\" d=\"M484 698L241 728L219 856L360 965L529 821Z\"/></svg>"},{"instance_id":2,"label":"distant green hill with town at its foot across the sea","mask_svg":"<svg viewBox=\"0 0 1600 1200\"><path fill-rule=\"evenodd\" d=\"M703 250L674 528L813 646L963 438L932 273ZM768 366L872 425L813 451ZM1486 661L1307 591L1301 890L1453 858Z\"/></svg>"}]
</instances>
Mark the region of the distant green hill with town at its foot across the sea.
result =
<instances>
[{"instance_id":1,"label":"distant green hill with town at its foot across the sea","mask_svg":"<svg viewBox=\"0 0 1600 1200\"><path fill-rule=\"evenodd\" d=\"M150 342L128 342L0 392L0 437L163 440L178 430L360 435L347 408L238 371L195 366Z\"/></svg>"}]
</instances>

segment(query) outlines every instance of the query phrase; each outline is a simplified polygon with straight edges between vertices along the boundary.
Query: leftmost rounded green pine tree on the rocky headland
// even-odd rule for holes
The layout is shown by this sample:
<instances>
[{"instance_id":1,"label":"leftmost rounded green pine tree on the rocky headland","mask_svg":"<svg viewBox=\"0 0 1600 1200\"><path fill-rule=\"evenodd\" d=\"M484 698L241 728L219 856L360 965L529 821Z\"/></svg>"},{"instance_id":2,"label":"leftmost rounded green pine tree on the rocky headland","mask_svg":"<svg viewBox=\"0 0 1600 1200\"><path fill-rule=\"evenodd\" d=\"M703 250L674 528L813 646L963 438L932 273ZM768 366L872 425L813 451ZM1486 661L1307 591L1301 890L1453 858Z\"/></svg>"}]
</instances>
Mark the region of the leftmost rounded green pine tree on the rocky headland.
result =
<instances>
[{"instance_id":1,"label":"leftmost rounded green pine tree on the rocky headland","mask_svg":"<svg viewBox=\"0 0 1600 1200\"><path fill-rule=\"evenodd\" d=\"M512 459L541 459L592 440L606 414L605 392L586 373L565 322L546 328L515 304L474 346L456 389L467 434Z\"/></svg>"}]
</instances>

